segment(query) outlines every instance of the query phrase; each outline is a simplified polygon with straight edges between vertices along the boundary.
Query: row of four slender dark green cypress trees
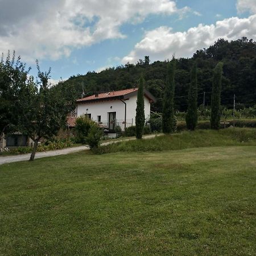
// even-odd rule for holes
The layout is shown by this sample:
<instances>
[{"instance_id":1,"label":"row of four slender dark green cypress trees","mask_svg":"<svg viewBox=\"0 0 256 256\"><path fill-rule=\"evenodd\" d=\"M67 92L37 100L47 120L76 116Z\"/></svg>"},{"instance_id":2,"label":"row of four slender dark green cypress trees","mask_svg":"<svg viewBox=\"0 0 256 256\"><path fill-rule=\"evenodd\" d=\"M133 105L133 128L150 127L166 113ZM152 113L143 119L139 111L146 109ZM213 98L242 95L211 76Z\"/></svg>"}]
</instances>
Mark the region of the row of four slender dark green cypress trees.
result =
<instances>
[{"instance_id":1,"label":"row of four slender dark green cypress trees","mask_svg":"<svg viewBox=\"0 0 256 256\"><path fill-rule=\"evenodd\" d=\"M167 64L166 88L163 98L162 130L163 133L172 133L175 126L174 95L175 95L175 59ZM221 79L223 63L218 63L213 72L210 125L212 129L220 127ZM195 130L198 121L197 115L197 64L191 70L191 84L188 91L188 110L185 117L188 130ZM144 80L139 80L139 89L136 108L136 138L141 139L145 123L144 114Z\"/></svg>"}]
</instances>

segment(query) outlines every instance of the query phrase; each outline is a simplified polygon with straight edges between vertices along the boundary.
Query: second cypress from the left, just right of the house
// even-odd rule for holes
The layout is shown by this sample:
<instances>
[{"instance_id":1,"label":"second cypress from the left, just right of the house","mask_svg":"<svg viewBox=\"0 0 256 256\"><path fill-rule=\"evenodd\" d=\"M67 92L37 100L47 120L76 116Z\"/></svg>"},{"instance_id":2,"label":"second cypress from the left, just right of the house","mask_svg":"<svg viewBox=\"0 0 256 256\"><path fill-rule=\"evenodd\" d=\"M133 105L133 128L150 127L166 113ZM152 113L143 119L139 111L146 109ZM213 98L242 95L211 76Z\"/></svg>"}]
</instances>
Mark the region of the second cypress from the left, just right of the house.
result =
<instances>
[{"instance_id":1,"label":"second cypress from the left, just right of the house","mask_svg":"<svg viewBox=\"0 0 256 256\"><path fill-rule=\"evenodd\" d=\"M174 92L175 92L175 59L167 64L166 88L163 98L163 133L171 133L174 130Z\"/></svg>"}]
</instances>

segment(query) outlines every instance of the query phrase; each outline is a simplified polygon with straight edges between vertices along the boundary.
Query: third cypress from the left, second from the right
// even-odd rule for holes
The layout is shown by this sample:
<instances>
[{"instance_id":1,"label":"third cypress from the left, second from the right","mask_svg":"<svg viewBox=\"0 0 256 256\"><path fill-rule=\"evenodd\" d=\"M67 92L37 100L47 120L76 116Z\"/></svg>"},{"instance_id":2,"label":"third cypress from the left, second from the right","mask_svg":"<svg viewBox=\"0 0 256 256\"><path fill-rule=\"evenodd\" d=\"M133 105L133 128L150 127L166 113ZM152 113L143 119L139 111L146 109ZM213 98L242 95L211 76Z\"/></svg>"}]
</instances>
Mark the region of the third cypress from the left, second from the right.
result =
<instances>
[{"instance_id":1,"label":"third cypress from the left, second from the right","mask_svg":"<svg viewBox=\"0 0 256 256\"><path fill-rule=\"evenodd\" d=\"M188 130L195 130L197 125L197 64L191 70L191 83L188 92L188 111L186 123Z\"/></svg>"}]
</instances>

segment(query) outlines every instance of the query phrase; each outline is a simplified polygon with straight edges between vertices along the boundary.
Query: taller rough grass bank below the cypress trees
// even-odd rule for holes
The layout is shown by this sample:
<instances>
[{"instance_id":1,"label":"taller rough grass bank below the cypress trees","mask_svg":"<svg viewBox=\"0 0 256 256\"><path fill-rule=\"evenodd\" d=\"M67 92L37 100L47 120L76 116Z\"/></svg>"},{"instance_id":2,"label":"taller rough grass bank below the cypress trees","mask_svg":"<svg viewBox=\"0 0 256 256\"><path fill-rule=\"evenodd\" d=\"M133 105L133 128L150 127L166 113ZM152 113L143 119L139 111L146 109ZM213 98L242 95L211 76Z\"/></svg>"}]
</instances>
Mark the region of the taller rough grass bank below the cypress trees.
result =
<instances>
[{"instance_id":1,"label":"taller rough grass bank below the cypress trees","mask_svg":"<svg viewBox=\"0 0 256 256\"><path fill-rule=\"evenodd\" d=\"M183 131L152 139L117 142L93 150L94 154L109 152L164 151L192 147L256 145L256 129L230 128L225 130Z\"/></svg>"}]
</instances>

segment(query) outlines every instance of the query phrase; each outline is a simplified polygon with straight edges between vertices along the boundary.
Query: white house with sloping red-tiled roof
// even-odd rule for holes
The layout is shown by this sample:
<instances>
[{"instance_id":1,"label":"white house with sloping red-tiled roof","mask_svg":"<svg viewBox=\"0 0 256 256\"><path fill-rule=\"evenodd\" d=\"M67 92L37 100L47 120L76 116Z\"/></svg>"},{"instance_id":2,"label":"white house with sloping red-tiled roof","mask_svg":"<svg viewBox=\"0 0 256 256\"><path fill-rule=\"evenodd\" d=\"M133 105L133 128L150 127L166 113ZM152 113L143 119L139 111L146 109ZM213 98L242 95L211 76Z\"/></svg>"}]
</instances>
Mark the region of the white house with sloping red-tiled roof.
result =
<instances>
[{"instance_id":1,"label":"white house with sloping red-tiled roof","mask_svg":"<svg viewBox=\"0 0 256 256\"><path fill-rule=\"evenodd\" d=\"M115 127L135 125L138 88L118 90L115 92L97 93L77 100L77 117L86 114L89 118L100 123L102 127L113 132ZM150 104L155 97L144 90L145 118L150 118Z\"/></svg>"}]
</instances>

